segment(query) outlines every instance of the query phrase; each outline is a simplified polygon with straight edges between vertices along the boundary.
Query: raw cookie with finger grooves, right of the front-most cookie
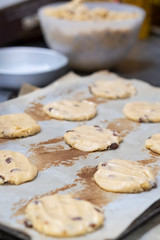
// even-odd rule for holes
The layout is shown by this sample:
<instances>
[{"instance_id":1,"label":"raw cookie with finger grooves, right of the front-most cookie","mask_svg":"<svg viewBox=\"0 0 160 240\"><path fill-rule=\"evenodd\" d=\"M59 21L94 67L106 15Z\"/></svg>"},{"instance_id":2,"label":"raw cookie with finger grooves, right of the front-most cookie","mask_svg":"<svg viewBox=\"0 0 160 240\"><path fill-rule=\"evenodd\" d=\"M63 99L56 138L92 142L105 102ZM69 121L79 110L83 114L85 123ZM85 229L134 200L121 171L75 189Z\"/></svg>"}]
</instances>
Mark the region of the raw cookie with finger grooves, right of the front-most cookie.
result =
<instances>
[{"instance_id":1,"label":"raw cookie with finger grooves, right of the front-most cookie","mask_svg":"<svg viewBox=\"0 0 160 240\"><path fill-rule=\"evenodd\" d=\"M142 192L156 186L155 173L151 168L121 159L100 163L94 180L109 192Z\"/></svg>"}]
</instances>

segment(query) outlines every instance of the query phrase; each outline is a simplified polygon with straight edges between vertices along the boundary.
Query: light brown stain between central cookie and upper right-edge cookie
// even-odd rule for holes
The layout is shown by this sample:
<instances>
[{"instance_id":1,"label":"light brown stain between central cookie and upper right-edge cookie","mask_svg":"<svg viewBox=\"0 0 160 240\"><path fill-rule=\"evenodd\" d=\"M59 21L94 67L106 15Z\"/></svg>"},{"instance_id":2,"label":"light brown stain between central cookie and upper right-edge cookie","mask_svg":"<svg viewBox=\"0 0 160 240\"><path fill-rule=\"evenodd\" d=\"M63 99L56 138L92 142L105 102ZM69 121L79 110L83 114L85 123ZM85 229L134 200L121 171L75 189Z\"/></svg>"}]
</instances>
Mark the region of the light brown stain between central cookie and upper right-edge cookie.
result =
<instances>
[{"instance_id":1,"label":"light brown stain between central cookie and upper right-edge cookie","mask_svg":"<svg viewBox=\"0 0 160 240\"><path fill-rule=\"evenodd\" d=\"M117 118L110 122L107 128L112 131L118 132L122 137L125 137L131 131L136 130L140 126L140 123L133 122L127 118Z\"/></svg>"}]
</instances>

